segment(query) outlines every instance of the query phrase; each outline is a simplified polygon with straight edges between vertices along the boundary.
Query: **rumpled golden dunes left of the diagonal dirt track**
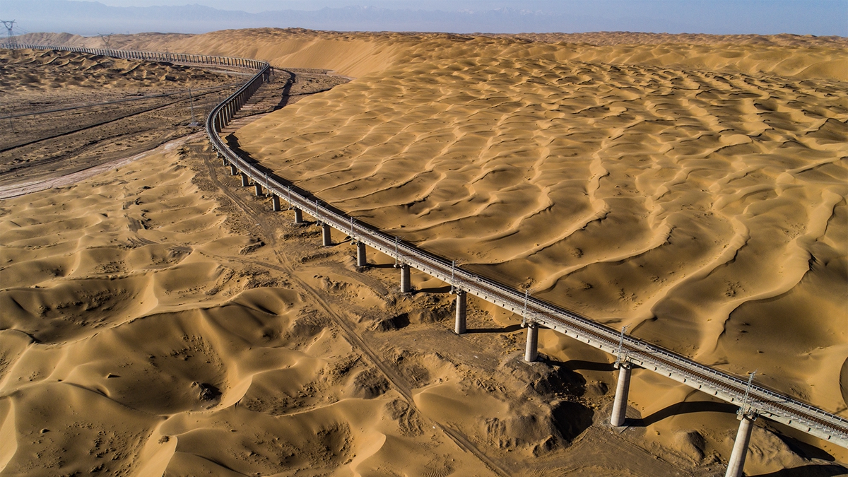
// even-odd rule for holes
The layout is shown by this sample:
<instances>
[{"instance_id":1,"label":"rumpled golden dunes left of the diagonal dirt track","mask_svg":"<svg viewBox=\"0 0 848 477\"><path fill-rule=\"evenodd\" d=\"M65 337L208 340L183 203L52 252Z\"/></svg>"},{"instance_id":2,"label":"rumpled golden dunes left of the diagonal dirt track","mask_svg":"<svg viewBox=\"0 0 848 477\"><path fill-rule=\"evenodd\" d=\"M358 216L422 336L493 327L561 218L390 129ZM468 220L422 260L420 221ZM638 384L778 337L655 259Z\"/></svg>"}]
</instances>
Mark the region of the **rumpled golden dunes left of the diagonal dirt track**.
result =
<instances>
[{"instance_id":1,"label":"rumpled golden dunes left of the diagonal dirt track","mask_svg":"<svg viewBox=\"0 0 848 477\"><path fill-rule=\"evenodd\" d=\"M413 449L410 469L444 466L454 444L262 266L191 154L3 202L4 474L363 472Z\"/></svg>"}]
</instances>

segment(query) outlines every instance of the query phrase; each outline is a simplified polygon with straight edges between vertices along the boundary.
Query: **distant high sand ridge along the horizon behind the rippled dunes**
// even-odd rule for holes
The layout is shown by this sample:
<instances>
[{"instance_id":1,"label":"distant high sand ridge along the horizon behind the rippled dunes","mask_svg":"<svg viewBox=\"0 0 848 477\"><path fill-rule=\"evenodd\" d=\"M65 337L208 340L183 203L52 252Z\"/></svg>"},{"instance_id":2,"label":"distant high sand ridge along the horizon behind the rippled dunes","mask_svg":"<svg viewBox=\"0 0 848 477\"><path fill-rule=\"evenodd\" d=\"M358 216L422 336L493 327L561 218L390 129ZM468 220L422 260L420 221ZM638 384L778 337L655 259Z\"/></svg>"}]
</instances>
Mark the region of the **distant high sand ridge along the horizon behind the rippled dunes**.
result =
<instances>
[{"instance_id":1,"label":"distant high sand ridge along the horizon behind the rippled dunes","mask_svg":"<svg viewBox=\"0 0 848 477\"><path fill-rule=\"evenodd\" d=\"M533 42L542 39L544 42ZM103 48L99 38L31 34L22 42ZM235 55L290 68L363 76L409 59L535 58L653 65L848 81L845 38L639 33L469 36L445 33L349 33L297 28L214 31L204 35L115 35L114 48Z\"/></svg>"}]
</instances>

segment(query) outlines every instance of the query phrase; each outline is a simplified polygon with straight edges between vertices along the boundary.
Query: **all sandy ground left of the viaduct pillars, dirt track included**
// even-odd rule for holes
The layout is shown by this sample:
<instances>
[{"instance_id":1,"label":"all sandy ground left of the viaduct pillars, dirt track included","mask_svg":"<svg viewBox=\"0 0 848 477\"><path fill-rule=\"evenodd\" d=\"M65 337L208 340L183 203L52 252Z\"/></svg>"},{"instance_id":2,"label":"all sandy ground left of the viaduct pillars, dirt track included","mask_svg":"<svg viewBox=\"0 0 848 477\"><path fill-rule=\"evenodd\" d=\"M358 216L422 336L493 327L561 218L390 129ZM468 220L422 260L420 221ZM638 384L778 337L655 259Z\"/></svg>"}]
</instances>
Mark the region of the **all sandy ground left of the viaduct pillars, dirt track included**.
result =
<instances>
[{"instance_id":1,"label":"all sandy ground left of the viaduct pillars, dirt track included","mask_svg":"<svg viewBox=\"0 0 848 477\"><path fill-rule=\"evenodd\" d=\"M190 143L3 201L4 475L494 475L485 458L672 476L726 458L701 434L611 432L603 358L528 366L514 318L473 301L483 329L455 336L443 283L400 295L381 255L355 271L213 160ZM807 464L762 429L755 449L751 469Z\"/></svg>"}]
</instances>

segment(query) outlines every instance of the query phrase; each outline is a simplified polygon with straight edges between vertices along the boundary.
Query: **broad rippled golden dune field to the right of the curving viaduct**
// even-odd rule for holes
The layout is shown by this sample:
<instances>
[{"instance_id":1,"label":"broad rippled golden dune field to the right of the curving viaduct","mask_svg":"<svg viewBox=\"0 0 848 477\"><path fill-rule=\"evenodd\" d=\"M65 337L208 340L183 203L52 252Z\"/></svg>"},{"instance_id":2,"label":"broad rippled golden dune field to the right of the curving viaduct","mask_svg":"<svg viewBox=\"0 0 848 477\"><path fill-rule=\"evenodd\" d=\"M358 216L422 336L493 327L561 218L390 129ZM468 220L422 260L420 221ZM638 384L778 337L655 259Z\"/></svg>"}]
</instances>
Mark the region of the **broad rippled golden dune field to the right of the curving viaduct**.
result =
<instances>
[{"instance_id":1,"label":"broad rippled golden dune field to the right of the curving viaduct","mask_svg":"<svg viewBox=\"0 0 848 477\"><path fill-rule=\"evenodd\" d=\"M427 250L844 413L841 84L421 59L237 137Z\"/></svg>"}]
</instances>

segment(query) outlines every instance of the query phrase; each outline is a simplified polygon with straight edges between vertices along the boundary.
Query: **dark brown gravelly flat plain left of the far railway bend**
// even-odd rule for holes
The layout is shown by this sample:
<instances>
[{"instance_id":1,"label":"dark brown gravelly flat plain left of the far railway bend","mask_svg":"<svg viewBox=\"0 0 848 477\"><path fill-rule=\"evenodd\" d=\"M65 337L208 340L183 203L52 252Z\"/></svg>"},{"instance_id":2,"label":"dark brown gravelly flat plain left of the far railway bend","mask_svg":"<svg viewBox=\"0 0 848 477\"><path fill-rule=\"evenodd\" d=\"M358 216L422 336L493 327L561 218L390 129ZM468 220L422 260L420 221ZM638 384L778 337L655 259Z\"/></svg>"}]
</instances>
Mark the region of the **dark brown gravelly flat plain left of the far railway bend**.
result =
<instances>
[{"instance_id":1,"label":"dark brown gravelly flat plain left of the far railway bend","mask_svg":"<svg viewBox=\"0 0 848 477\"><path fill-rule=\"evenodd\" d=\"M0 184L52 180L197 132L192 105L202 117L241 81L181 65L0 49Z\"/></svg>"}]
</instances>

